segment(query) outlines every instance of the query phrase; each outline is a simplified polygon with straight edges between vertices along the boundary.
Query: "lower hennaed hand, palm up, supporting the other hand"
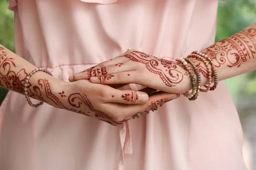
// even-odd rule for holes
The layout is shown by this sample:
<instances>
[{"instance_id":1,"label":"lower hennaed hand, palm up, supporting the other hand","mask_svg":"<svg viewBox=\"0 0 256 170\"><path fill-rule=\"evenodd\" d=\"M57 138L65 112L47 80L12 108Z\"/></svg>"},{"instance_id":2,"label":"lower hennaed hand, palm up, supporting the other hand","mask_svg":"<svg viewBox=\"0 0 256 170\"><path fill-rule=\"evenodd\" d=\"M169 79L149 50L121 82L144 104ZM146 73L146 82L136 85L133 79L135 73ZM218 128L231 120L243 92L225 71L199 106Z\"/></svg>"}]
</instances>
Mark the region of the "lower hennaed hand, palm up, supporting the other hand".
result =
<instances>
[{"instance_id":1,"label":"lower hennaed hand, palm up, supporting the other hand","mask_svg":"<svg viewBox=\"0 0 256 170\"><path fill-rule=\"evenodd\" d=\"M179 96L162 92L148 97L142 91L121 91L108 85L93 84L89 80L57 81L58 83L38 79L39 86L29 89L36 89L37 92L32 93L34 97L41 92L46 93L45 99L39 98L50 105L95 117L111 125L120 125L136 113L150 111L152 106L163 104Z\"/></svg>"}]
</instances>

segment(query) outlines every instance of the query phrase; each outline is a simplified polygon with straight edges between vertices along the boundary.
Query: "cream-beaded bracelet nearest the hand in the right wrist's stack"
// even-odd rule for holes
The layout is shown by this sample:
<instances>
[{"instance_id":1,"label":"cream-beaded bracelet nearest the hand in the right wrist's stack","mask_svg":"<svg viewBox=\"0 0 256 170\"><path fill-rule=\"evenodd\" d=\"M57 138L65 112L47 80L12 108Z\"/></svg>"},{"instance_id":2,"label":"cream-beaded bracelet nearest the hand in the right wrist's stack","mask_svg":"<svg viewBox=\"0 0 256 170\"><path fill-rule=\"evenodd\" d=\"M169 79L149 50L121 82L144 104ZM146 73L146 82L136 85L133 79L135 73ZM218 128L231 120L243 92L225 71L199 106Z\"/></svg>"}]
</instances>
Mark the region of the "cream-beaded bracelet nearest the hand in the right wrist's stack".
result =
<instances>
[{"instance_id":1,"label":"cream-beaded bracelet nearest the hand in the right wrist's stack","mask_svg":"<svg viewBox=\"0 0 256 170\"><path fill-rule=\"evenodd\" d=\"M191 80L191 85L192 85L192 92L190 94L188 93L185 93L183 94L184 96L188 97L189 100L195 100L197 99L197 96L198 96L198 93L197 93L197 96L195 96L195 92L196 92L196 82L195 82L195 74L193 74L193 72L189 69L189 66L188 66L188 63L186 62L185 59L181 58L181 57L178 57L176 59L176 61L180 61L182 62L182 64L185 66L185 70L189 72L189 77L190 77L190 80Z\"/></svg>"}]
</instances>

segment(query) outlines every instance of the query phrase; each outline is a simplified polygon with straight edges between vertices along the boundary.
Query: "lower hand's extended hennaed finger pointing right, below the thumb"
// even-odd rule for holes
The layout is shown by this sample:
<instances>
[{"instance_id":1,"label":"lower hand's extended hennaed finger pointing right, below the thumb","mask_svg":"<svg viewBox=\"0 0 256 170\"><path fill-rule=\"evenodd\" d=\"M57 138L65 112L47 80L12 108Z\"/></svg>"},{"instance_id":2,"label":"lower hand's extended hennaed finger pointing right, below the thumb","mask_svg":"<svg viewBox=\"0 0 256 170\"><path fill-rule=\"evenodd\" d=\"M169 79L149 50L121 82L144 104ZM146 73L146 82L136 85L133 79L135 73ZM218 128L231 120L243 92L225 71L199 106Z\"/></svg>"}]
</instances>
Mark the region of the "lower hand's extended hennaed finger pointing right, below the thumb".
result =
<instances>
[{"instance_id":1,"label":"lower hand's extended hennaed finger pointing right, below the thumb","mask_svg":"<svg viewBox=\"0 0 256 170\"><path fill-rule=\"evenodd\" d=\"M154 111L155 109L158 109L160 105L163 105L166 102L170 102L174 99L177 99L179 96L180 94L162 92L160 94L150 96L148 101L142 105L133 105L132 107L125 106L125 108L129 110L129 112L127 111L124 112L126 113L125 119L133 118L133 115L136 113L138 116L143 116L144 114L147 114L152 110Z\"/></svg>"}]
</instances>

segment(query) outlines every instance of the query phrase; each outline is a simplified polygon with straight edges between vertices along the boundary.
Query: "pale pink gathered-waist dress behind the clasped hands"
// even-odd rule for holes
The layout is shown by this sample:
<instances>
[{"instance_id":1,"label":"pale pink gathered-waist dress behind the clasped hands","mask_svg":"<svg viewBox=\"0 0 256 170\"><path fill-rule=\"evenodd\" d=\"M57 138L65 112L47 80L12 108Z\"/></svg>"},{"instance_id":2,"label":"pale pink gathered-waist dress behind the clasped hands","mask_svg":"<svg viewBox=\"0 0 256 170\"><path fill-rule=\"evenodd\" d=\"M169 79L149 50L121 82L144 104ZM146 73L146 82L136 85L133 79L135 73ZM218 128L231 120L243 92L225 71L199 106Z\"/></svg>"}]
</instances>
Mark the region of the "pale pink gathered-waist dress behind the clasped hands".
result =
<instances>
[{"instance_id":1,"label":"pale pink gathered-waist dress behind the clasped hands","mask_svg":"<svg viewBox=\"0 0 256 170\"><path fill-rule=\"evenodd\" d=\"M65 81L127 48L166 59L201 50L214 42L217 7L218 0L9 2L17 54ZM224 82L195 102L180 97L117 127L47 104L31 108L12 91L0 108L0 170L245 170L242 139Z\"/></svg>"}]
</instances>

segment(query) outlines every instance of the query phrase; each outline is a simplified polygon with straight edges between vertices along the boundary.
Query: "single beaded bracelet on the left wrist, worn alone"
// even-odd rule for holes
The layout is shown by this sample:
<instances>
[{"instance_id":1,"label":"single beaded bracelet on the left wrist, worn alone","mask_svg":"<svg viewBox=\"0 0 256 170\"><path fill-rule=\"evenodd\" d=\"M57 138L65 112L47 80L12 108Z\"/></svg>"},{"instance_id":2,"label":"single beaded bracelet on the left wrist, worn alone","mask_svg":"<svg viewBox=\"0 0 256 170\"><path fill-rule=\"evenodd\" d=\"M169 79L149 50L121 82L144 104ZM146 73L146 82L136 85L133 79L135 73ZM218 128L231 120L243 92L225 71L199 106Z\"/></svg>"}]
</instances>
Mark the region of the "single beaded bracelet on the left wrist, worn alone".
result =
<instances>
[{"instance_id":1,"label":"single beaded bracelet on the left wrist, worn alone","mask_svg":"<svg viewBox=\"0 0 256 170\"><path fill-rule=\"evenodd\" d=\"M39 107L40 105L43 105L43 103L44 103L44 102L40 102L40 103L34 105L34 104L30 101L30 99L29 99L29 94L28 94L28 92L27 92L27 91L28 91L28 89L27 89L27 86L28 86L28 85L27 85L27 84L28 84L28 82L29 82L30 77L32 77L32 75L35 74L35 73L38 72L38 71L44 71L45 73L47 73L47 74L49 74L50 76L52 76L52 73L49 72L48 70L45 70L45 69L42 69L42 68L35 68L35 70L31 71L31 72L29 73L29 75L26 77L25 82L24 82L24 84L23 84L23 91L24 91L24 95L25 95L25 97L26 97L27 102L28 102L29 105L32 106L33 108L37 108L37 107Z\"/></svg>"}]
</instances>

